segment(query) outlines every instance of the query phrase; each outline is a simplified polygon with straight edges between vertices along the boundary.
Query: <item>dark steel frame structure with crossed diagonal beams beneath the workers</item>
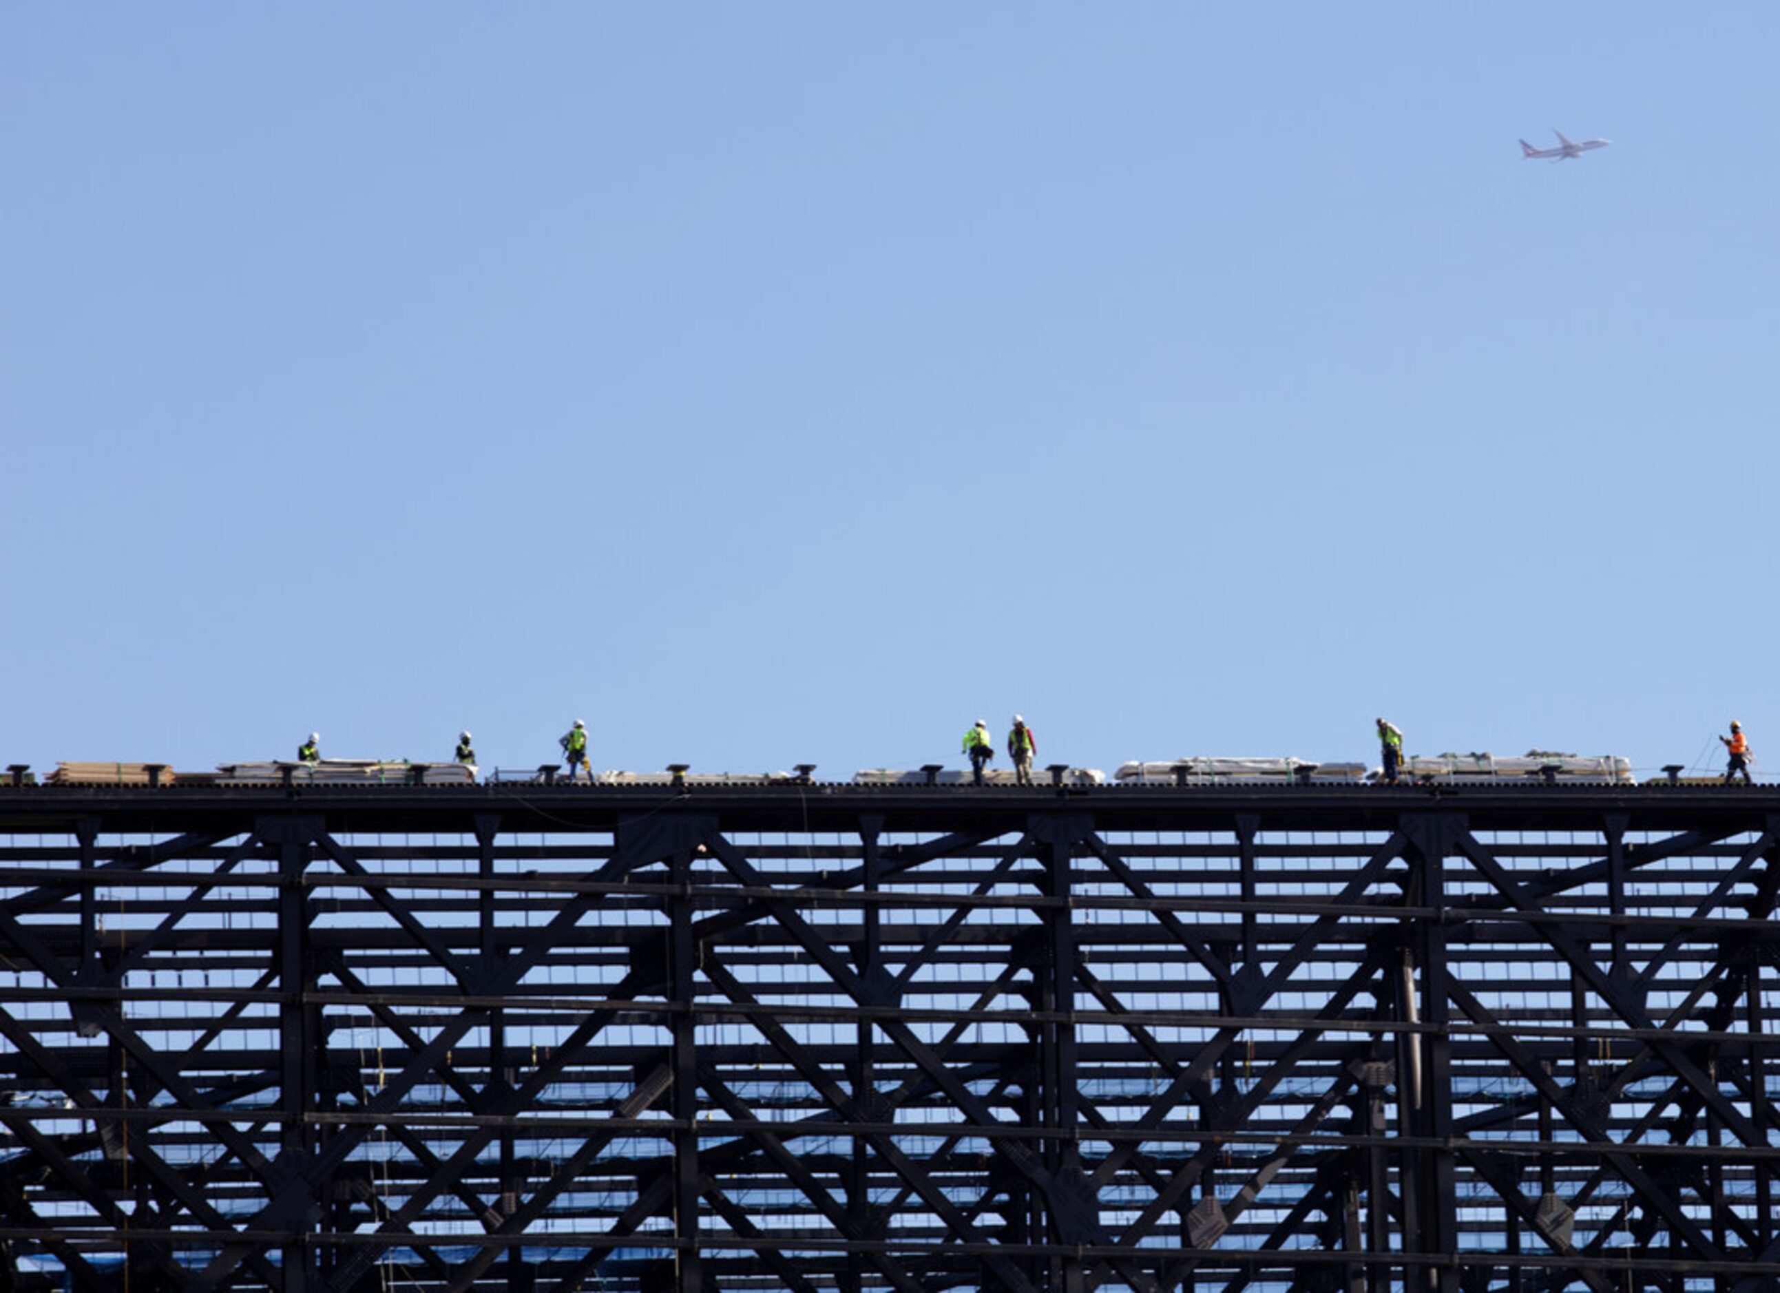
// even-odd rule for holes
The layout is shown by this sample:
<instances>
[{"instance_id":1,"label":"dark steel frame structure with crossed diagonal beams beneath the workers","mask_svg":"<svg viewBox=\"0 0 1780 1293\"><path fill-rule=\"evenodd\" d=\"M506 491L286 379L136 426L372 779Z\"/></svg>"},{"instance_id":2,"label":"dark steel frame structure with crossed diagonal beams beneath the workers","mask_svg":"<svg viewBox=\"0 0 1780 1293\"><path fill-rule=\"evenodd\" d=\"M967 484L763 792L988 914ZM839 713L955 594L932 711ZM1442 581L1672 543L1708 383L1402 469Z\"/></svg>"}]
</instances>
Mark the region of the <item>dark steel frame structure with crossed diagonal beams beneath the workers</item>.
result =
<instances>
[{"instance_id":1,"label":"dark steel frame structure with crossed diagonal beams beneath the workers","mask_svg":"<svg viewBox=\"0 0 1780 1293\"><path fill-rule=\"evenodd\" d=\"M0 791L0 1288L1780 1277L1768 789Z\"/></svg>"}]
</instances>

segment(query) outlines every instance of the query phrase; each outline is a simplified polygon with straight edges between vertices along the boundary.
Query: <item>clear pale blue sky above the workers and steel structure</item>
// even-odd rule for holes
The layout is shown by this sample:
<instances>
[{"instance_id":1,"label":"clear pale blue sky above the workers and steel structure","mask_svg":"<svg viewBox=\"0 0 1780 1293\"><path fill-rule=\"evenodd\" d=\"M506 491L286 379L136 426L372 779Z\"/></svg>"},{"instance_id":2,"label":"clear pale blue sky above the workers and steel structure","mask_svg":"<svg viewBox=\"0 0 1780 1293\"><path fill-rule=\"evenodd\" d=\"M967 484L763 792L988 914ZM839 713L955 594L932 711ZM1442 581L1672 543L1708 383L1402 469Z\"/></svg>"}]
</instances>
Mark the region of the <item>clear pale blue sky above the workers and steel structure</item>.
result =
<instances>
[{"instance_id":1,"label":"clear pale blue sky above the workers and steel structure","mask_svg":"<svg viewBox=\"0 0 1780 1293\"><path fill-rule=\"evenodd\" d=\"M9 4L0 762L1780 760L1776 48Z\"/></svg>"}]
</instances>

